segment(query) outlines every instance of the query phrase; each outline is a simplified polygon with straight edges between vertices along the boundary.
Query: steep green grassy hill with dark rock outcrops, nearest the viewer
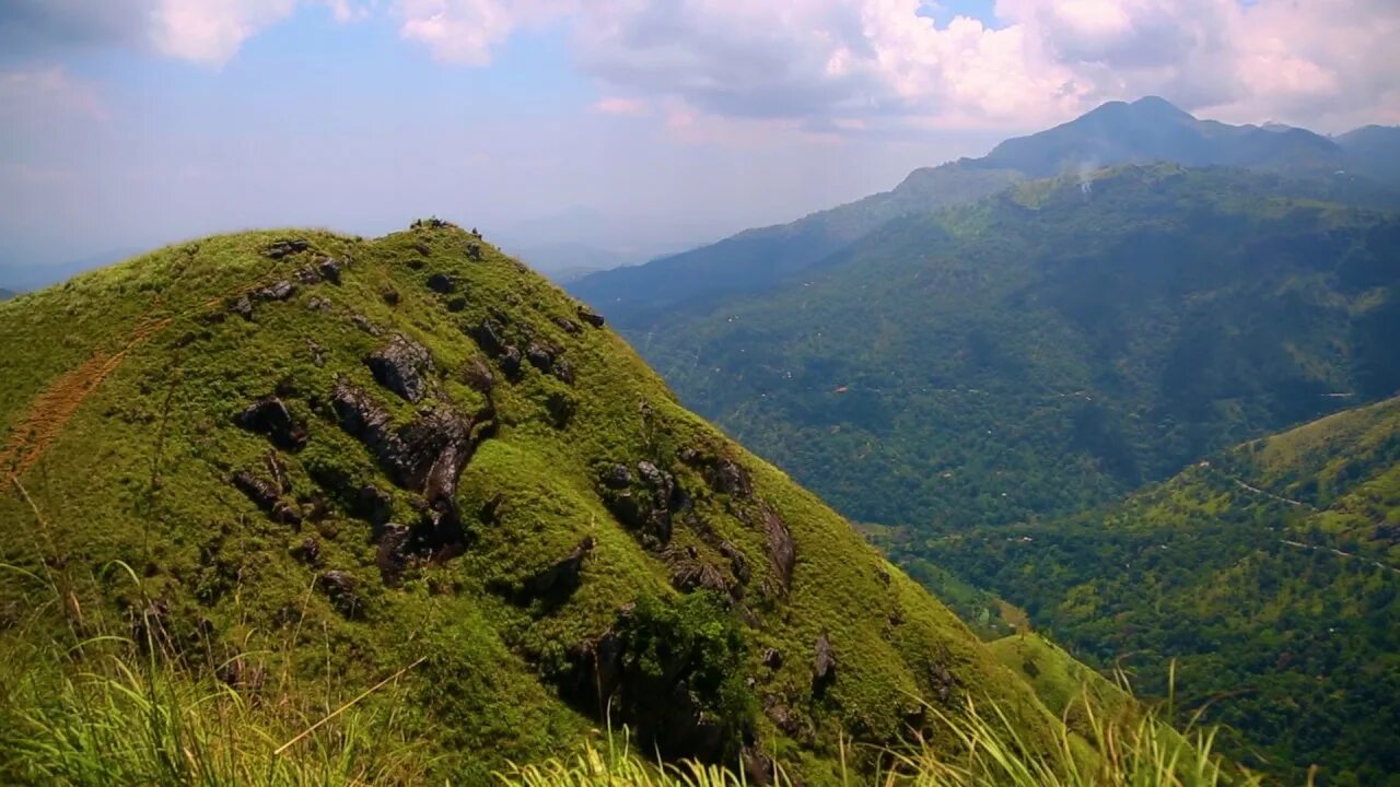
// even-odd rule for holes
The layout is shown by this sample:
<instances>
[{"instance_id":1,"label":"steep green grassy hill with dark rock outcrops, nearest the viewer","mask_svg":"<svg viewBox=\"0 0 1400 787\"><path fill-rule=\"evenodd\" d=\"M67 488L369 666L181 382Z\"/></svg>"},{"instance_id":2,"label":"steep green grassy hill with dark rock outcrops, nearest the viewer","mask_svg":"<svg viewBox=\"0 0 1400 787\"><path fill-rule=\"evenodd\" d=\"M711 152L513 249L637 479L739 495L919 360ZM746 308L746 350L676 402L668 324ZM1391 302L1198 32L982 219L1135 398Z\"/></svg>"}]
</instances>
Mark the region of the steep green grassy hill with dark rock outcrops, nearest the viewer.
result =
<instances>
[{"instance_id":1,"label":"steep green grassy hill with dark rock outcrops, nearest the viewer","mask_svg":"<svg viewBox=\"0 0 1400 787\"><path fill-rule=\"evenodd\" d=\"M451 224L80 276L0 305L0 707L36 643L129 637L304 724L391 716L426 783L627 724L834 784L969 697L1056 745L955 615Z\"/></svg>"}]
</instances>

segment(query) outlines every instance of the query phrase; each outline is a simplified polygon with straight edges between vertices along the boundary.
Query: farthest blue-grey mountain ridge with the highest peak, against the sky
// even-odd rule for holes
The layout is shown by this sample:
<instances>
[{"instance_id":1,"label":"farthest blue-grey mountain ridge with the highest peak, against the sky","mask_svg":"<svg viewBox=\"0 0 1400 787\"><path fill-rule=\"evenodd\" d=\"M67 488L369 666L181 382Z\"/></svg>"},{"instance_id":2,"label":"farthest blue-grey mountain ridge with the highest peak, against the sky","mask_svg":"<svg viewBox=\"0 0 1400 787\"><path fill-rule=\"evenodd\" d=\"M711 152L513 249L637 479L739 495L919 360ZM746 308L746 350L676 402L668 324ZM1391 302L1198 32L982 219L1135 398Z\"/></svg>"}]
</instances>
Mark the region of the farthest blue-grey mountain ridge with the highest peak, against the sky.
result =
<instances>
[{"instance_id":1,"label":"farthest blue-grey mountain ridge with the highest peak, against the sky","mask_svg":"<svg viewBox=\"0 0 1400 787\"><path fill-rule=\"evenodd\" d=\"M983 158L916 169L890 192L647 265L594 273L571 283L570 291L623 329L644 333L676 311L703 312L727 297L797 277L893 218L976 202L1026 178L1117 164L1169 161L1322 178L1344 185L1359 204L1400 206L1394 133L1362 129L1334 141L1288 126L1198 120L1156 97L1113 101L1068 123L1007 140Z\"/></svg>"}]
</instances>

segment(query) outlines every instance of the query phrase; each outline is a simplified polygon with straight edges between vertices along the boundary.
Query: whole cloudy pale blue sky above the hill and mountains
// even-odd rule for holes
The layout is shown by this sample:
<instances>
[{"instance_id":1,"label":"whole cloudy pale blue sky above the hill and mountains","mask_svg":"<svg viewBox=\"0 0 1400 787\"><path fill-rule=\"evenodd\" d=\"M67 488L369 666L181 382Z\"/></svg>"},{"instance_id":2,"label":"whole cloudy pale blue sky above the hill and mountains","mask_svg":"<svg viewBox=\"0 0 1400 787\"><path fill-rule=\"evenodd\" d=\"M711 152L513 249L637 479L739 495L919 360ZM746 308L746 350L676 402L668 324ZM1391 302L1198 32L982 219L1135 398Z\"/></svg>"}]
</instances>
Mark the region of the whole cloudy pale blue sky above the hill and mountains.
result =
<instances>
[{"instance_id":1,"label":"whole cloudy pale blue sky above the hill and mountains","mask_svg":"<svg viewBox=\"0 0 1400 787\"><path fill-rule=\"evenodd\" d=\"M648 253L1110 99L1396 125L1397 41L1396 0L0 0L0 267L430 214Z\"/></svg>"}]
</instances>

